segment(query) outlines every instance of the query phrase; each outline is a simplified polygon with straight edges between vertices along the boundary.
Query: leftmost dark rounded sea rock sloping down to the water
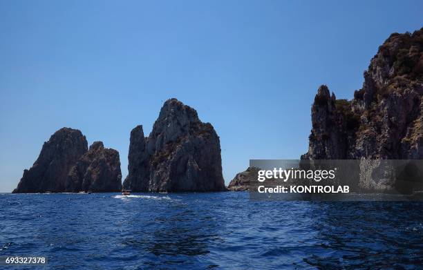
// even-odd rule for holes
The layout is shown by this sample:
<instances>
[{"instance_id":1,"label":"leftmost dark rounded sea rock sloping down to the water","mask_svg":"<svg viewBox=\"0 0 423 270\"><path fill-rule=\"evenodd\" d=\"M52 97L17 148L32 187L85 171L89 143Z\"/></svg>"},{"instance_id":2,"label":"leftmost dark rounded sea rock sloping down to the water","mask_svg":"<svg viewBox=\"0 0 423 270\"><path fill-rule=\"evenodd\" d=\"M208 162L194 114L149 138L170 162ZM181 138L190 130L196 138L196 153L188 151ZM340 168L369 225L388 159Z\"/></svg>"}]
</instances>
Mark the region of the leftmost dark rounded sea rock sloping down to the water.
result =
<instances>
[{"instance_id":1,"label":"leftmost dark rounded sea rock sloping down to the water","mask_svg":"<svg viewBox=\"0 0 423 270\"><path fill-rule=\"evenodd\" d=\"M86 153L88 143L81 131L61 128L44 142L39 157L13 193L64 192L66 177L79 157Z\"/></svg>"}]
</instances>

